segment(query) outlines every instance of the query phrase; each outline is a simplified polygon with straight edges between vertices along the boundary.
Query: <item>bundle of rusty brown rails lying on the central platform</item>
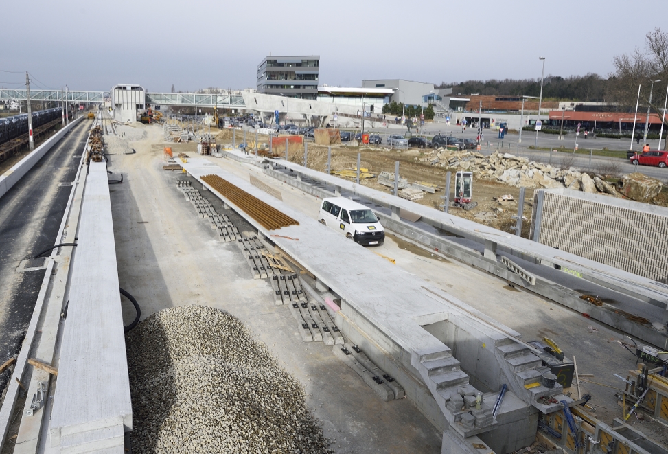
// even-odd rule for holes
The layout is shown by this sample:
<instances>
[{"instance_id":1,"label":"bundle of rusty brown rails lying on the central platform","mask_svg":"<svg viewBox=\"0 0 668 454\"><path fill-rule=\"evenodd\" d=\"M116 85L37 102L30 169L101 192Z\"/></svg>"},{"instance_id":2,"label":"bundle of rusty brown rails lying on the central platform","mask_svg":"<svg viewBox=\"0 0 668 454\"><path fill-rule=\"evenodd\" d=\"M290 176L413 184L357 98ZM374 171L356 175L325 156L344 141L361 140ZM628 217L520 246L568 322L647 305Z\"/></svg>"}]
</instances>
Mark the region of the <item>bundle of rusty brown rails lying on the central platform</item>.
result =
<instances>
[{"instance_id":1,"label":"bundle of rusty brown rails lying on the central platform","mask_svg":"<svg viewBox=\"0 0 668 454\"><path fill-rule=\"evenodd\" d=\"M211 185L211 188L220 192L231 203L248 213L251 218L257 220L265 229L275 230L281 227L288 227L288 225L299 225L290 216L279 212L271 205L268 205L268 203L264 203L259 198L251 196L248 192L218 177L218 175L205 175L202 177L202 180Z\"/></svg>"}]
</instances>

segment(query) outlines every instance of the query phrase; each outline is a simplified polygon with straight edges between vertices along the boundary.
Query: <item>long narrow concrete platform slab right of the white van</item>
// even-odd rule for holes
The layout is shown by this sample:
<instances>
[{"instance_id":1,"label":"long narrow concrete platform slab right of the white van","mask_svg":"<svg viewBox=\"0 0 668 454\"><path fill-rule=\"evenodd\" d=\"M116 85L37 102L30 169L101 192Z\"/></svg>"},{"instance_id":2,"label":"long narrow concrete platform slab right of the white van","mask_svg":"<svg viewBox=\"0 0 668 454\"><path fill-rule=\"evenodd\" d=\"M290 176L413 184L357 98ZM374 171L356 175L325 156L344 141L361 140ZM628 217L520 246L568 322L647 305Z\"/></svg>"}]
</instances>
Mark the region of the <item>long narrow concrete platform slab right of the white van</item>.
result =
<instances>
[{"instance_id":1,"label":"long narrow concrete platform slab right of the white van","mask_svg":"<svg viewBox=\"0 0 668 454\"><path fill-rule=\"evenodd\" d=\"M655 282L646 277L601 264L594 260L576 256L573 253L541 245L526 238L475 223L472 220L452 216L451 214L437 211L425 205L367 188L353 181L347 181L323 172L318 172L290 161L270 160L270 162L274 166L284 166L291 172L295 172L303 177L332 185L338 192L342 189L347 190L356 196L366 198L378 205L393 207L397 212L400 209L404 209L415 215L419 215L424 222L434 227L485 245L485 252L487 253L494 253L496 249L497 251L507 251L529 262L547 266L562 266L579 273L581 277L587 280L608 286L627 295L642 298L664 310L668 305L668 287L660 282ZM398 216L396 217L396 220L398 220Z\"/></svg>"}]
</instances>

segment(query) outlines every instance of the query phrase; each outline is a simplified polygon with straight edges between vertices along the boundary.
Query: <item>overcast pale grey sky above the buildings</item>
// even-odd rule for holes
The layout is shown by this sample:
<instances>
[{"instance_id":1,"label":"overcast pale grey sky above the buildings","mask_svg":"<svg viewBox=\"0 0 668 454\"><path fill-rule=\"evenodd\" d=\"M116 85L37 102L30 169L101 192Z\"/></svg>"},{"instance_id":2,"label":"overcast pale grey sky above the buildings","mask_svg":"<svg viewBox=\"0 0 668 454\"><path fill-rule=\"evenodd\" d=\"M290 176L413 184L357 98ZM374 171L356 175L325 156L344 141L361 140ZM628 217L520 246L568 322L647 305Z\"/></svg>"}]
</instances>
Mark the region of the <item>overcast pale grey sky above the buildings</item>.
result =
<instances>
[{"instance_id":1,"label":"overcast pale grey sky above the buildings","mask_svg":"<svg viewBox=\"0 0 668 454\"><path fill-rule=\"evenodd\" d=\"M320 84L353 87L540 78L539 56L546 75L607 76L613 56L668 27L666 0L31 0L2 11L0 70L105 91L255 87L269 54L319 55ZM0 73L0 82L19 88L25 77Z\"/></svg>"}]
</instances>

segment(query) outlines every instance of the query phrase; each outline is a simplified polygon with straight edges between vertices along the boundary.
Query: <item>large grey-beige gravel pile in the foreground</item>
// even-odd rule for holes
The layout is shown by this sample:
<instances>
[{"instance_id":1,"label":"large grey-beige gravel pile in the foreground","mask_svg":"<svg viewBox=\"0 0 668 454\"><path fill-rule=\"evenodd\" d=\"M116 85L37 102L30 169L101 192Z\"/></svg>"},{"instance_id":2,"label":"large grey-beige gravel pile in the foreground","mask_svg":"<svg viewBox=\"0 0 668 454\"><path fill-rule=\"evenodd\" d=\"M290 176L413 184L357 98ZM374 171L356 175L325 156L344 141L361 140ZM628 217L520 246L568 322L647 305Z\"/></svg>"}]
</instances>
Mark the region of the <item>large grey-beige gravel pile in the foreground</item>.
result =
<instances>
[{"instance_id":1,"label":"large grey-beige gravel pile in the foreground","mask_svg":"<svg viewBox=\"0 0 668 454\"><path fill-rule=\"evenodd\" d=\"M134 453L333 453L306 396L231 315L161 310L126 336Z\"/></svg>"}]
</instances>

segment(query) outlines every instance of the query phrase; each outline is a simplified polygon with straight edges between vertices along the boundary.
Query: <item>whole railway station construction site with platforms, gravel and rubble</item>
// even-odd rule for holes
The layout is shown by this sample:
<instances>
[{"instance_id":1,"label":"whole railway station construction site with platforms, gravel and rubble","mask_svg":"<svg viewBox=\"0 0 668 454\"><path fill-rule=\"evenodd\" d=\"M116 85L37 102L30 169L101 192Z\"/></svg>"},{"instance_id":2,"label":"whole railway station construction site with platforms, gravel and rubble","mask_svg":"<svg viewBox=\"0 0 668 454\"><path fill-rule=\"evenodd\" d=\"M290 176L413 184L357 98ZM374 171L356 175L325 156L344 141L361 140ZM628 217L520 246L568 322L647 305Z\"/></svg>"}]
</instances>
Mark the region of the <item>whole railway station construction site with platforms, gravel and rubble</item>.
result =
<instances>
[{"instance_id":1,"label":"whole railway station construction site with platforms, gravel and rubble","mask_svg":"<svg viewBox=\"0 0 668 454\"><path fill-rule=\"evenodd\" d=\"M91 113L0 176L2 454L668 453L665 179Z\"/></svg>"}]
</instances>

